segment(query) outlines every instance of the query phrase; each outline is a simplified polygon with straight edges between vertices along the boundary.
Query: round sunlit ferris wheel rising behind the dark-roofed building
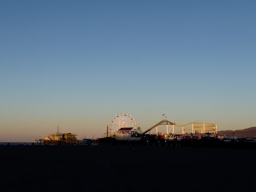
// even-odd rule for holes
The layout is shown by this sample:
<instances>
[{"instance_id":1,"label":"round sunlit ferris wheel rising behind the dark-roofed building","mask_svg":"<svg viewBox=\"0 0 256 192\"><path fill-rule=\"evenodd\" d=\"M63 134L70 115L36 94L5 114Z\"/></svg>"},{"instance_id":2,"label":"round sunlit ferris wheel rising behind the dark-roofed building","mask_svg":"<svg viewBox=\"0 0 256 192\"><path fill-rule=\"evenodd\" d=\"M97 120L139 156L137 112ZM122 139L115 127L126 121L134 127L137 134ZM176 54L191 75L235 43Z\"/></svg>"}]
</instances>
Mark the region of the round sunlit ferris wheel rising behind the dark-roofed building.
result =
<instances>
[{"instance_id":1,"label":"round sunlit ferris wheel rising behind the dark-roofed building","mask_svg":"<svg viewBox=\"0 0 256 192\"><path fill-rule=\"evenodd\" d=\"M136 122L132 115L129 115L127 113L120 113L118 115L115 115L111 119L109 128L112 132L116 132L123 127L133 127L134 129L136 129Z\"/></svg>"}]
</instances>

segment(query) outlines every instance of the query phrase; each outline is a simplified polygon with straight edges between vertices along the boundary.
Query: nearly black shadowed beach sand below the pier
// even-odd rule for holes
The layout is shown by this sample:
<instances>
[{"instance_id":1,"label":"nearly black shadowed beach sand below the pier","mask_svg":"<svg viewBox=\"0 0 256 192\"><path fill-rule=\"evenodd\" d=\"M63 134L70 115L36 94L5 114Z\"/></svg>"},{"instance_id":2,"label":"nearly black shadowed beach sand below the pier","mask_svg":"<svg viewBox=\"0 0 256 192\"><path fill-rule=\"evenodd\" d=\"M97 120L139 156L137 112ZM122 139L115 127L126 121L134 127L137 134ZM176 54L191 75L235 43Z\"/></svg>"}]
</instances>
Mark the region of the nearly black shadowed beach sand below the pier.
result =
<instances>
[{"instance_id":1,"label":"nearly black shadowed beach sand below the pier","mask_svg":"<svg viewBox=\"0 0 256 192\"><path fill-rule=\"evenodd\" d=\"M1 191L256 191L256 150L0 146Z\"/></svg>"}]
</instances>

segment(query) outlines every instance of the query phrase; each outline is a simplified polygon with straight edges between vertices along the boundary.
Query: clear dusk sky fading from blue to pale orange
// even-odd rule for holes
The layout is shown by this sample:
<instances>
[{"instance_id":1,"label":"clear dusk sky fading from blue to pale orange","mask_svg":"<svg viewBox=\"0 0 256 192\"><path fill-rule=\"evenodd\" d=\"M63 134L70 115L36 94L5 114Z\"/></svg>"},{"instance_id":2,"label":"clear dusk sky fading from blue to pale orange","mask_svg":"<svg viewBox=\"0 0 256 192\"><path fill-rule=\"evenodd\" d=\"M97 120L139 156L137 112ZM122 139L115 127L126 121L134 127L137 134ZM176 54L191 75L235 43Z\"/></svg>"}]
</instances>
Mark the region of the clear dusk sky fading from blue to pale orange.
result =
<instances>
[{"instance_id":1,"label":"clear dusk sky fading from blue to pale orange","mask_svg":"<svg viewBox=\"0 0 256 192\"><path fill-rule=\"evenodd\" d=\"M255 1L0 1L0 141L256 126Z\"/></svg>"}]
</instances>

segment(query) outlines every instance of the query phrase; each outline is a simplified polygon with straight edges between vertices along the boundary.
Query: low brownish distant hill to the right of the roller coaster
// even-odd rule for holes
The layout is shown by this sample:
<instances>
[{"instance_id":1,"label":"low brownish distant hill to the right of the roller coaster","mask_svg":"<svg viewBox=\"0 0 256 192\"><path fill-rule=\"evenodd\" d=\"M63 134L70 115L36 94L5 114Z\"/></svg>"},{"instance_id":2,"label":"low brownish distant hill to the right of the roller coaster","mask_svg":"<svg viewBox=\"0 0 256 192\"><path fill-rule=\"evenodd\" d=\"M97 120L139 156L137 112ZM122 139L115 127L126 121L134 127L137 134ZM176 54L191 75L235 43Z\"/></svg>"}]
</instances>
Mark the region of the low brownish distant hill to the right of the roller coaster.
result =
<instances>
[{"instance_id":1,"label":"low brownish distant hill to the right of the roller coaster","mask_svg":"<svg viewBox=\"0 0 256 192\"><path fill-rule=\"evenodd\" d=\"M243 129L243 130L235 130L235 131L231 131L231 130L227 130L227 131L218 131L218 135L221 136L233 136L234 133L234 137L251 137L251 138L256 138L256 127L250 127L247 129Z\"/></svg>"}]
</instances>

